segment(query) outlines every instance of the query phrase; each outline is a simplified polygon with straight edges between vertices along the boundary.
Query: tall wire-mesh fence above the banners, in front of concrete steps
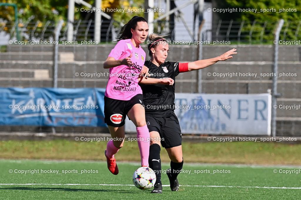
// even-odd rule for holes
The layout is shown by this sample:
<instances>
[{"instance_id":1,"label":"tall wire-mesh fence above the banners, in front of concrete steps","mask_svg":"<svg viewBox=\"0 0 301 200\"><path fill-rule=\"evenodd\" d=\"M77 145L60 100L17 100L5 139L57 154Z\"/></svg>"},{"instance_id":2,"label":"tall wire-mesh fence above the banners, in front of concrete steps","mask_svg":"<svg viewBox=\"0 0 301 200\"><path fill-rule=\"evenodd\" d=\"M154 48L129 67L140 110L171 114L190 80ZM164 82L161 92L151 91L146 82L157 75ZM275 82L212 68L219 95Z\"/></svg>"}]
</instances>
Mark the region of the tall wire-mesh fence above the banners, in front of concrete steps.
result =
<instances>
[{"instance_id":1,"label":"tall wire-mesh fence above the banners, in front of concrete steps","mask_svg":"<svg viewBox=\"0 0 301 200\"><path fill-rule=\"evenodd\" d=\"M54 70L55 45L15 44L16 24L2 22L2 44L9 40L12 45L1 48L0 52L0 86L1 87L53 87L54 77L57 77L57 87L105 87L107 84L107 70L102 64L110 50L114 47L112 41L119 34L121 27L114 26L114 21L102 21L101 40L107 44L90 45L93 43L94 22L77 21L74 23L74 40L66 41L67 22L62 24L57 45L58 62ZM260 25L259 26L256 25ZM301 114L296 106L301 105L301 47L300 22L285 22L280 31L279 59L278 59L278 94L276 116L276 135L301 136ZM212 28L203 28L201 32L203 45L170 45L169 60L191 62L199 58L208 59L236 48L238 54L226 62L218 62L201 71L179 74L176 78L176 92L189 93L227 93L250 94L267 93L273 89L275 83L273 74L274 33L276 22L253 22L252 26L246 22L219 21L212 24ZM19 24L22 41L54 40L54 22L40 23L27 21ZM184 37L187 31L184 25L175 25L176 38ZM193 23L188 23L193 26ZM158 22L163 34L172 30L170 24ZM206 27L206 26L204 26ZM207 26L208 27L208 26ZM176 29L177 28L177 29ZM197 29L196 29L197 30ZM178 36L177 36L178 35ZM168 36L170 37L170 36ZM193 44L197 34L190 40ZM3 39L4 38L4 39ZM171 38L169 38L171 40ZM1 40L1 39L0 39ZM5 40L5 41L4 41ZM205 41L210 44L204 43ZM171 41L172 42L172 41ZM214 44L214 42L219 44ZM67 43L67 45L66 45ZM147 52L146 45L143 46ZM200 54L199 54L200 53ZM214 76L214 72L225 74ZM76 76L76 73L79 75ZM87 74L93 74L88 77ZM233 76L234 73L257 74L256 76ZM232 74L232 75L231 75ZM262 74L262 75L261 75ZM281 76L280 76L281 74ZM280 105L295 105L294 109L281 109ZM23 127L6 127L7 130L23 130ZM39 127L39 130L42 130ZM64 129L57 128L57 132L98 132L98 129Z\"/></svg>"}]
</instances>

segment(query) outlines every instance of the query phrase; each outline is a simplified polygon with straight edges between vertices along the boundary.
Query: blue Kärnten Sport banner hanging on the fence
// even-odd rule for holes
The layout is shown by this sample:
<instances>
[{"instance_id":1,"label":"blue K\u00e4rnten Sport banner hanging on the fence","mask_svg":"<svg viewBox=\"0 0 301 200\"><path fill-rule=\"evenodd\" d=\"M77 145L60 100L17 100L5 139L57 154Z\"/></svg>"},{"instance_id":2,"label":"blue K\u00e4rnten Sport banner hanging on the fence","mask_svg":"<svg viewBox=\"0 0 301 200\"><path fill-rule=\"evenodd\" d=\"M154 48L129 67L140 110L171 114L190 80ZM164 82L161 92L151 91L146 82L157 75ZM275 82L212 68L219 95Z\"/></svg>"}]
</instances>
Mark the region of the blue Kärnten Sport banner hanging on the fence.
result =
<instances>
[{"instance_id":1,"label":"blue K\u00e4rnten Sport banner hanging on the fence","mask_svg":"<svg viewBox=\"0 0 301 200\"><path fill-rule=\"evenodd\" d=\"M0 88L0 126L92 126L104 123L102 88Z\"/></svg>"}]
</instances>

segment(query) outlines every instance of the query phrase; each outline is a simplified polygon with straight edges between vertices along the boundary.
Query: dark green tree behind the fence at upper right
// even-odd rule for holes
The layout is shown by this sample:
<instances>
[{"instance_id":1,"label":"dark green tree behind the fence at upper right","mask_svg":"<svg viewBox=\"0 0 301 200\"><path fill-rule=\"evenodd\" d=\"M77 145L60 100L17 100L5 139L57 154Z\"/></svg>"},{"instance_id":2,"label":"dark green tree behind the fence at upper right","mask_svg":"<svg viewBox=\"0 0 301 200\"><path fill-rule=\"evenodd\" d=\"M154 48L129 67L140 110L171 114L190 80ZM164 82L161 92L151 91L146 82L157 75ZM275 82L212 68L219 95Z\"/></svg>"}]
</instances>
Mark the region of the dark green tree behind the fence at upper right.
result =
<instances>
[{"instance_id":1,"label":"dark green tree behind the fence at upper right","mask_svg":"<svg viewBox=\"0 0 301 200\"><path fill-rule=\"evenodd\" d=\"M222 9L237 9L237 12L221 12L218 14L223 21L245 21L242 35L248 35L255 20L256 24L253 27L255 33L260 33L265 21L268 21L271 26L266 26L265 28L265 40L273 39L272 32L280 19L284 19L284 27L288 27L286 39L294 39L296 28L301 20L301 2L299 0L222 0L217 5L218 8ZM257 11L239 12L240 9L248 8L257 9ZM255 34L254 37L252 36L252 40L257 40L259 37L260 34ZM247 36L244 39L249 38Z\"/></svg>"}]
</instances>

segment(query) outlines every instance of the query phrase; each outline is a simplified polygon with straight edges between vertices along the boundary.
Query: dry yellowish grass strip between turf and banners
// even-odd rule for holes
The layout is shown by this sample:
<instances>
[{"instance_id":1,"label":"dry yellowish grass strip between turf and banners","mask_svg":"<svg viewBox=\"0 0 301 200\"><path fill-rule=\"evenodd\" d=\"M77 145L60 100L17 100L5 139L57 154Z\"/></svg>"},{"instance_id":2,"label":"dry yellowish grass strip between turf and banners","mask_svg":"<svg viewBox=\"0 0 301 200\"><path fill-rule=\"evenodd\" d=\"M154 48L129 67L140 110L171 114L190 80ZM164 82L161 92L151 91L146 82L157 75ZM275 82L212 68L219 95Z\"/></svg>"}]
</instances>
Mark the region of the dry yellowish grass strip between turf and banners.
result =
<instances>
[{"instance_id":1,"label":"dry yellowish grass strip between turf and banners","mask_svg":"<svg viewBox=\"0 0 301 200\"><path fill-rule=\"evenodd\" d=\"M104 161L107 141L81 142L0 141L0 159L54 159ZM301 165L301 144L281 142L183 142L184 162ZM117 160L140 161L137 142L125 142L116 154ZM161 150L162 162L169 162L166 150Z\"/></svg>"}]
</instances>

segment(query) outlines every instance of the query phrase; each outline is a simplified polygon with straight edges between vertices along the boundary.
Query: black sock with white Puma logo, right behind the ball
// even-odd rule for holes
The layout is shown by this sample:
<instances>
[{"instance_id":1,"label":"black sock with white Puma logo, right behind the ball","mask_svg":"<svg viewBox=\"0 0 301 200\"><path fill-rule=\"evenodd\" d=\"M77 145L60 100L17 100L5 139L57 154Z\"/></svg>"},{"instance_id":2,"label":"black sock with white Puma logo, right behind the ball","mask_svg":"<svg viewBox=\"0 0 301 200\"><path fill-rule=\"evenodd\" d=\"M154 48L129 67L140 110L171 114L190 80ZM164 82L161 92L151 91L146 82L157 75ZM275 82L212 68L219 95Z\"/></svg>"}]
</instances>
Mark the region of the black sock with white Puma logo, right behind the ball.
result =
<instances>
[{"instance_id":1,"label":"black sock with white Puma logo, right behind the ball","mask_svg":"<svg viewBox=\"0 0 301 200\"><path fill-rule=\"evenodd\" d=\"M159 144L152 144L150 146L150 155L148 157L148 164L150 168L154 170L156 174L156 183L161 183L161 160L160 160L160 150Z\"/></svg>"}]
</instances>

